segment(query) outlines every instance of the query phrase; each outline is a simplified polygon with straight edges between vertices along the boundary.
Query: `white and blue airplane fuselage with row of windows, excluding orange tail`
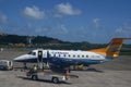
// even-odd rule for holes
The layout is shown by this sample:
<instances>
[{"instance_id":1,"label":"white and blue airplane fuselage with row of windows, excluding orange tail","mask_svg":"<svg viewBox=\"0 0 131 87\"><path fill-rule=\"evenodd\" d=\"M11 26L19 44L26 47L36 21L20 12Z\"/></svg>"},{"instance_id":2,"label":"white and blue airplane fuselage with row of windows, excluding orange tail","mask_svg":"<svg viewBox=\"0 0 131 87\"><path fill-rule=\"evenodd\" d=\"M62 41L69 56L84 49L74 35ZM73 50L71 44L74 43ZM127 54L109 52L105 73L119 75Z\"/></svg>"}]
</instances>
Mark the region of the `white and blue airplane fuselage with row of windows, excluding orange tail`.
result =
<instances>
[{"instance_id":1,"label":"white and blue airplane fuselage with row of windows, excluding orange tail","mask_svg":"<svg viewBox=\"0 0 131 87\"><path fill-rule=\"evenodd\" d=\"M25 62L32 63L37 62L38 51L33 50L28 54L23 54L14 59L15 62ZM47 62L53 64L98 64L107 61L107 57L90 52L90 51L74 51L74 50L40 50L43 52L43 62Z\"/></svg>"}]
</instances>

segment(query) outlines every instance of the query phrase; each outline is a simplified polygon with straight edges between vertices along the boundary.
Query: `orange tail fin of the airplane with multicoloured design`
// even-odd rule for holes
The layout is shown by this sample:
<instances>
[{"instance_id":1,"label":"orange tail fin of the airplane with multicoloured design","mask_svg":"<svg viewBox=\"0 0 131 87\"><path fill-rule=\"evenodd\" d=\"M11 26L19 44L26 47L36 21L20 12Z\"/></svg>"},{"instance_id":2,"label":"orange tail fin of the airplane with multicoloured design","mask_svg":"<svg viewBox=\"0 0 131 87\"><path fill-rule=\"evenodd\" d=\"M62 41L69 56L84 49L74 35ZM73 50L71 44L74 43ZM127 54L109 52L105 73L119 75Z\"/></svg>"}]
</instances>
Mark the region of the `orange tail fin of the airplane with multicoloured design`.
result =
<instances>
[{"instance_id":1,"label":"orange tail fin of the airplane with multicoloured design","mask_svg":"<svg viewBox=\"0 0 131 87\"><path fill-rule=\"evenodd\" d=\"M123 40L131 38L114 38L107 46L107 48L91 50L92 52L96 52L99 54L104 54L106 57L118 57L120 49L122 47Z\"/></svg>"}]
</instances>

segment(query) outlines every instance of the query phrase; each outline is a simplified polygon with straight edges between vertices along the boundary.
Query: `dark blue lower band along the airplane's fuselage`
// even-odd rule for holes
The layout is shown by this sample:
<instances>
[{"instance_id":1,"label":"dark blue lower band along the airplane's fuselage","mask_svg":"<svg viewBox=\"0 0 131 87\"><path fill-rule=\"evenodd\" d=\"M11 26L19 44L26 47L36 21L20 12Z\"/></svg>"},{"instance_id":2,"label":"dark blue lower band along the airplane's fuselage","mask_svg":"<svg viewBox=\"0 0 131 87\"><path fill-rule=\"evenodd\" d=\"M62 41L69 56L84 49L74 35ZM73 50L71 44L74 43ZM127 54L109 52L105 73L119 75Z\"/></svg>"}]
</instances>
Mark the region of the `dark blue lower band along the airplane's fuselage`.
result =
<instances>
[{"instance_id":1,"label":"dark blue lower band along the airplane's fuselage","mask_svg":"<svg viewBox=\"0 0 131 87\"><path fill-rule=\"evenodd\" d=\"M69 58L51 57L51 58L43 58L43 62L47 62L47 60L48 60L50 63L58 64L58 65L64 65L67 63L91 65L91 64L103 63L110 59L112 59L112 58L105 57L105 60L91 60L91 59L69 59ZM19 60L15 62L37 63L37 58Z\"/></svg>"}]
</instances>

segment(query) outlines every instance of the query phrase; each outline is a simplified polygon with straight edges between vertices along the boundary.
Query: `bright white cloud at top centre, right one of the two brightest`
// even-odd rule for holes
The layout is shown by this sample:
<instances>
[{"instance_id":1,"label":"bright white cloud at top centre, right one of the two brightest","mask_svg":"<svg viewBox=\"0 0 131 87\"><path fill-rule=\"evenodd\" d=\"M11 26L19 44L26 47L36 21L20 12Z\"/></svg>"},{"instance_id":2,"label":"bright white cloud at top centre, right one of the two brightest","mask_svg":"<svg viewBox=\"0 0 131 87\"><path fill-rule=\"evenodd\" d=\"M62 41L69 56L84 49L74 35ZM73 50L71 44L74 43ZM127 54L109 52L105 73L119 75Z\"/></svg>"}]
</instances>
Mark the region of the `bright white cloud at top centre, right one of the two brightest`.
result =
<instances>
[{"instance_id":1,"label":"bright white cloud at top centre, right one of the two brightest","mask_svg":"<svg viewBox=\"0 0 131 87\"><path fill-rule=\"evenodd\" d=\"M81 11L74 9L70 3L60 3L56 5L56 10L59 14L64 15L80 15Z\"/></svg>"}]
</instances>

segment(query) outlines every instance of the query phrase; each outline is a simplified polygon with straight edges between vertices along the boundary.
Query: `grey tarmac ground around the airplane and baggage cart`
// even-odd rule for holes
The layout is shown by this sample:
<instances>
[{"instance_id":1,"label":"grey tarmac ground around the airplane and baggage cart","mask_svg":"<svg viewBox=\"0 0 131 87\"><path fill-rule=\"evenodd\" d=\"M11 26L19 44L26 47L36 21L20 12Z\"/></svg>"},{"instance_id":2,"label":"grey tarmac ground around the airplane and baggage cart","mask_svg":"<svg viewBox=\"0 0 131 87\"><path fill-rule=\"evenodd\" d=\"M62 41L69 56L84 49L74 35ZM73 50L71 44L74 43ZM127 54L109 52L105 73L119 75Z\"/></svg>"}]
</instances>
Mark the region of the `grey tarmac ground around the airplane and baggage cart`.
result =
<instances>
[{"instance_id":1,"label":"grey tarmac ground around the airplane and baggage cart","mask_svg":"<svg viewBox=\"0 0 131 87\"><path fill-rule=\"evenodd\" d=\"M4 50L0 51L0 59L12 60L26 52ZM25 72L21 70L0 71L0 87L131 87L131 55L120 55L109 62L92 65L86 71L72 71L71 74L78 75L79 78L52 84L28 79L25 77Z\"/></svg>"}]
</instances>

